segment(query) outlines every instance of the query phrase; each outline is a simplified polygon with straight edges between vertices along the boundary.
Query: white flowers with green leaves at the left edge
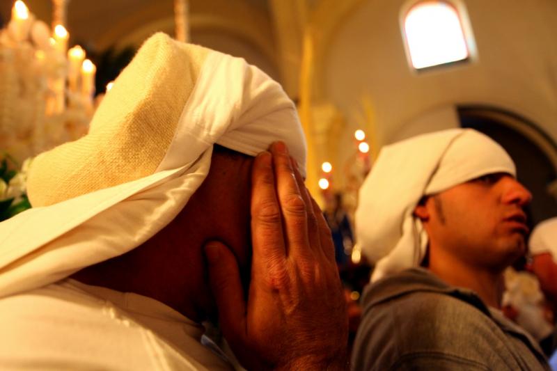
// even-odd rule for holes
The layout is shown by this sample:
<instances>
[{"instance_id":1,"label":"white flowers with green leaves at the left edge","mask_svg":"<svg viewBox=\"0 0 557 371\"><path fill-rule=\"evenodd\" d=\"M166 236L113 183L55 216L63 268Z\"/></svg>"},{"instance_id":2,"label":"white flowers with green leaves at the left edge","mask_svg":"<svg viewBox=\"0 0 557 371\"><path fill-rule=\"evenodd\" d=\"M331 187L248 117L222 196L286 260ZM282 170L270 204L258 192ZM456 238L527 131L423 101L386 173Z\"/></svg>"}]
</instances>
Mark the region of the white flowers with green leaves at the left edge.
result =
<instances>
[{"instance_id":1,"label":"white flowers with green leaves at the left edge","mask_svg":"<svg viewBox=\"0 0 557 371\"><path fill-rule=\"evenodd\" d=\"M17 163L12 157L3 155L1 158L0 221L4 221L31 208L26 194L26 181L32 160L26 159L21 170L17 171Z\"/></svg>"}]
</instances>

